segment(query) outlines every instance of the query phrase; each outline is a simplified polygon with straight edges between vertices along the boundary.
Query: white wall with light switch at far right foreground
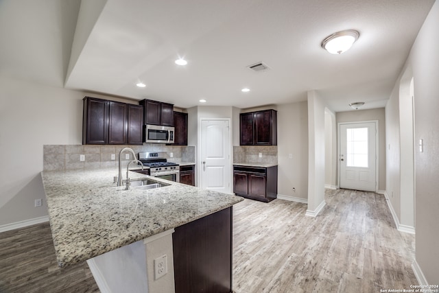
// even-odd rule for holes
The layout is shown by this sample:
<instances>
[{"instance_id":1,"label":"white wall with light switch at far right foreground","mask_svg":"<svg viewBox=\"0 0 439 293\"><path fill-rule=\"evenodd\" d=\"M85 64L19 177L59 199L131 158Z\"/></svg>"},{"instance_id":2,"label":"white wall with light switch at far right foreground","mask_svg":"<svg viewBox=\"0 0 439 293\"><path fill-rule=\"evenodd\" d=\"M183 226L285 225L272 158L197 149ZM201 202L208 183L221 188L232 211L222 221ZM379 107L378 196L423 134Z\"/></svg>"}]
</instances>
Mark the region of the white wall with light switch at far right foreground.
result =
<instances>
[{"instance_id":1,"label":"white wall with light switch at far right foreground","mask_svg":"<svg viewBox=\"0 0 439 293\"><path fill-rule=\"evenodd\" d=\"M416 261L429 284L439 283L439 1L420 29L407 63L414 75Z\"/></svg>"}]
</instances>

